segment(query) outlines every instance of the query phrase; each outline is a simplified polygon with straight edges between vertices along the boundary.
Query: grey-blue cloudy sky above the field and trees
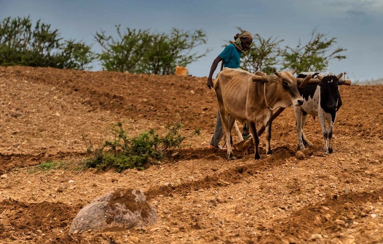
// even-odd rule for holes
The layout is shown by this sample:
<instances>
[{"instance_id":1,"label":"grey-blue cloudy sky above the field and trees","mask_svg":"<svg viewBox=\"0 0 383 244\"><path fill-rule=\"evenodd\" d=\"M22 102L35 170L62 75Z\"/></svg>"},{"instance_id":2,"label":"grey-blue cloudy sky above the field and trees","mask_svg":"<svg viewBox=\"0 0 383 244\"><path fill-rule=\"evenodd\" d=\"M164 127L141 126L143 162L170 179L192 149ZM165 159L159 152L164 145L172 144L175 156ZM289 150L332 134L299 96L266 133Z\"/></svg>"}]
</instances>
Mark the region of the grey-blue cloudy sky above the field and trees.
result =
<instances>
[{"instance_id":1,"label":"grey-blue cloudy sky above the field and trees","mask_svg":"<svg viewBox=\"0 0 383 244\"><path fill-rule=\"evenodd\" d=\"M84 40L96 52L96 31L114 35L116 24L161 32L201 28L208 41L196 51L212 51L188 66L198 77L208 75L238 26L285 39L284 46L295 46L299 39L306 43L317 27L347 48L347 59L331 61L329 71L346 71L360 81L383 77L383 0L0 0L0 19L28 15L32 23L50 23L61 37Z\"/></svg>"}]
</instances>

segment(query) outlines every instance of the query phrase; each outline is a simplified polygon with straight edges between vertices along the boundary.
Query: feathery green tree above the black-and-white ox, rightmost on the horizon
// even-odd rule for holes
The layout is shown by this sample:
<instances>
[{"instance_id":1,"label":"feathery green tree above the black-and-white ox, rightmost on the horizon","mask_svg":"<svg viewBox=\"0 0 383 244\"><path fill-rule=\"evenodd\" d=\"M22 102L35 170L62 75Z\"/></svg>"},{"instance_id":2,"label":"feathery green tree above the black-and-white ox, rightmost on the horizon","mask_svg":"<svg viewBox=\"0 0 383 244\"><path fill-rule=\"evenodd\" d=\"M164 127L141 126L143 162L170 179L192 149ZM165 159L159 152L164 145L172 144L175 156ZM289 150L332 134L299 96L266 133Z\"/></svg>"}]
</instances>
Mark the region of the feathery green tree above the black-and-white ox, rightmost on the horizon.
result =
<instances>
[{"instance_id":1,"label":"feathery green tree above the black-and-white ox, rightmost on the horizon","mask_svg":"<svg viewBox=\"0 0 383 244\"><path fill-rule=\"evenodd\" d=\"M286 46L281 55L283 58L283 69L297 68L297 72L302 71L324 71L331 59L345 59L346 56L342 55L343 51L347 49L337 47L331 50L336 42L336 37L330 39L326 38L326 34L318 33L314 28L311 31L311 39L302 45L299 40L295 48Z\"/></svg>"}]
</instances>

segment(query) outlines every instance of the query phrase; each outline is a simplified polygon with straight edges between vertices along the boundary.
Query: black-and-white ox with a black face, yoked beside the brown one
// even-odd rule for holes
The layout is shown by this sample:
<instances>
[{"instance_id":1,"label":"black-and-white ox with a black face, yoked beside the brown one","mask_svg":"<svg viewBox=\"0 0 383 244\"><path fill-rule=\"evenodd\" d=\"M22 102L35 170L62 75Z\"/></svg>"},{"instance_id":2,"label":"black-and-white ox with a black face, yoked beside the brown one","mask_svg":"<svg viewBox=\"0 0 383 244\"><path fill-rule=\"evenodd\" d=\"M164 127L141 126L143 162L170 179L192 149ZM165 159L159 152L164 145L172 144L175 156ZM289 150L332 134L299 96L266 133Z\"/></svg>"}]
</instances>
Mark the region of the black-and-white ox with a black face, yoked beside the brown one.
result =
<instances>
[{"instance_id":1,"label":"black-and-white ox with a black face, yoked beside the brown one","mask_svg":"<svg viewBox=\"0 0 383 244\"><path fill-rule=\"evenodd\" d=\"M333 73L325 76L318 72L303 72L296 78L305 78L307 75L320 80L319 84L306 84L303 88L299 88L299 94L303 97L301 106L294 106L296 117L296 132L298 137L298 150L304 150L304 146L311 146L312 143L304 136L303 126L306 122L307 115L318 117L322 127L324 138L324 153L332 153L331 138L336 119L336 112L342 106L342 99L338 90L338 85L342 85L344 81L339 82L343 73L335 76ZM328 128L326 127L326 122Z\"/></svg>"}]
</instances>

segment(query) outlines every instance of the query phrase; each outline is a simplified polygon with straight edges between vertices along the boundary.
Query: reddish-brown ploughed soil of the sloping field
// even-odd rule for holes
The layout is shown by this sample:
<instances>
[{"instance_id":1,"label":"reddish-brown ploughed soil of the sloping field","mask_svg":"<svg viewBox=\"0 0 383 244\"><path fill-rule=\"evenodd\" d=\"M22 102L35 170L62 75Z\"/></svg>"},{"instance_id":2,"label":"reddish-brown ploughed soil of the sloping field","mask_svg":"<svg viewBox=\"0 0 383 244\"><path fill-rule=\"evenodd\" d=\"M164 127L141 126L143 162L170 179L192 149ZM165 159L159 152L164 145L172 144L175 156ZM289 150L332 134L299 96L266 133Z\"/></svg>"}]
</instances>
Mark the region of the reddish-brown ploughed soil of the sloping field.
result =
<instances>
[{"instance_id":1,"label":"reddish-brown ploughed soil of the sloping field","mask_svg":"<svg viewBox=\"0 0 383 244\"><path fill-rule=\"evenodd\" d=\"M207 149L217 102L205 82L0 67L0 243L383 242L383 86L340 87L332 154L322 153L311 117L313 146L297 153L290 107L273 123L271 156L264 135L254 160L233 133L237 159L227 161L226 151ZM110 139L116 122L131 136L182 122L188 137L142 171L84 169L86 141ZM201 134L191 136L195 128ZM46 162L57 165L36 167ZM69 234L82 207L119 188L142 189L158 222Z\"/></svg>"}]
</instances>

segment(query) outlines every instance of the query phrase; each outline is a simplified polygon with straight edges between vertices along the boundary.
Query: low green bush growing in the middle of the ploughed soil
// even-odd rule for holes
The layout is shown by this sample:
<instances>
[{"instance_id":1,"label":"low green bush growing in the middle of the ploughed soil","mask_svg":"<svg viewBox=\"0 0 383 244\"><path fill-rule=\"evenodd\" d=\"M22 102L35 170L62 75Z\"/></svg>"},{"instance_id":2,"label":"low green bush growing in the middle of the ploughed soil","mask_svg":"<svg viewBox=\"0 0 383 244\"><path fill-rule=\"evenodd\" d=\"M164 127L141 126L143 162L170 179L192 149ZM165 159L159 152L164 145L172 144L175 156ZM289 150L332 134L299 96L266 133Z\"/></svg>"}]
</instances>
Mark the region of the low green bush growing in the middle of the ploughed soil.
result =
<instances>
[{"instance_id":1,"label":"low green bush growing in the middle of the ploughed soil","mask_svg":"<svg viewBox=\"0 0 383 244\"><path fill-rule=\"evenodd\" d=\"M114 168L117 172L127 168L142 170L145 163L161 159L163 151L181 147L185 139L179 134L181 127L181 123L166 126L168 132L163 138L154 129L130 138L123 129L122 122L118 122L112 128L114 139L106 140L101 147L95 148L91 141L88 145L83 137L87 143L87 152L91 154L85 161L85 167L102 170Z\"/></svg>"}]
</instances>

